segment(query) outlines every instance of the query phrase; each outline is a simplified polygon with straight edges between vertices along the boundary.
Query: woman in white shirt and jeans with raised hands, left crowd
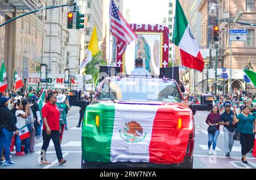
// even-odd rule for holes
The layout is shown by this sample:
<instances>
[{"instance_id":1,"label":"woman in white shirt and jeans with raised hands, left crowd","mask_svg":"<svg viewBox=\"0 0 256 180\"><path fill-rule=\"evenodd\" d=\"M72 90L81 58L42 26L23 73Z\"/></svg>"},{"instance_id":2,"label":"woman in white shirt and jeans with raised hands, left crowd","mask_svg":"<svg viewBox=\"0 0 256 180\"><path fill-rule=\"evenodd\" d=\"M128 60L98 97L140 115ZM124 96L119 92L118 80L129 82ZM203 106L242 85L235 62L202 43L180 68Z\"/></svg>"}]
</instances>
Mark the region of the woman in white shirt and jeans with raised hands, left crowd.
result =
<instances>
[{"instance_id":1,"label":"woman in white shirt and jeans with raised hands, left crowd","mask_svg":"<svg viewBox=\"0 0 256 180\"><path fill-rule=\"evenodd\" d=\"M28 117L29 113L30 113L30 107L27 105L26 106L26 110L25 112L22 110L23 109L23 105L22 102L20 102L16 112L15 112L15 116L17 118L17 122L16 122L16 127L22 128L23 126L26 125L26 118ZM25 153L20 152L20 147L21 147L21 140L19 138L19 135L16 135L16 156L24 156Z\"/></svg>"}]
</instances>

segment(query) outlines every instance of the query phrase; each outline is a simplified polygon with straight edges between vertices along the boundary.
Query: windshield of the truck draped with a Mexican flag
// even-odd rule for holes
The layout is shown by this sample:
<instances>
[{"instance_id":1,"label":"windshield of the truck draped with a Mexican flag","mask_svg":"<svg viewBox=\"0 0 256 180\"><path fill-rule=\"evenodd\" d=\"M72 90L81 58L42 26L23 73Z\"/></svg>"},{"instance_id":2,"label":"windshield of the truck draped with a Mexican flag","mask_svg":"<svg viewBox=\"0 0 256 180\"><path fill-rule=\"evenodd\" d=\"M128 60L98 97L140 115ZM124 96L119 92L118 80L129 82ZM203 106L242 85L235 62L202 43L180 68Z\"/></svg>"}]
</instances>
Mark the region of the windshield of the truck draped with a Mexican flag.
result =
<instances>
[{"instance_id":1,"label":"windshield of the truck draped with a Mexican flag","mask_svg":"<svg viewBox=\"0 0 256 180\"><path fill-rule=\"evenodd\" d=\"M98 100L152 100L181 102L176 83L161 79L111 79L105 82Z\"/></svg>"}]
</instances>

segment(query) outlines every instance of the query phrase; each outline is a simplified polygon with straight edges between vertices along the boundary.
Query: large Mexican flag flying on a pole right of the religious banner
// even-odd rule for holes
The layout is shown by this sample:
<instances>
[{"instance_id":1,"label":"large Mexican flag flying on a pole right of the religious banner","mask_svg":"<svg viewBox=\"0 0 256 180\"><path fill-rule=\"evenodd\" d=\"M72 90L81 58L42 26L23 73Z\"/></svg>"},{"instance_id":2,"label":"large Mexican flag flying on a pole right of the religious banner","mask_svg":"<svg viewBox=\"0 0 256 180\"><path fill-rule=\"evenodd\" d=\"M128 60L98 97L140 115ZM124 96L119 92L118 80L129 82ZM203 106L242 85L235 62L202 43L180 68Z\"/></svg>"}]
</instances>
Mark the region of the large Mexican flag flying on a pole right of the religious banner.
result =
<instances>
[{"instance_id":1,"label":"large Mexican flag flying on a pole right of the religious banner","mask_svg":"<svg viewBox=\"0 0 256 180\"><path fill-rule=\"evenodd\" d=\"M175 25L172 43L180 48L182 66L193 68L200 72L204 69L204 59L200 53L188 20L179 0L176 0Z\"/></svg>"}]
</instances>

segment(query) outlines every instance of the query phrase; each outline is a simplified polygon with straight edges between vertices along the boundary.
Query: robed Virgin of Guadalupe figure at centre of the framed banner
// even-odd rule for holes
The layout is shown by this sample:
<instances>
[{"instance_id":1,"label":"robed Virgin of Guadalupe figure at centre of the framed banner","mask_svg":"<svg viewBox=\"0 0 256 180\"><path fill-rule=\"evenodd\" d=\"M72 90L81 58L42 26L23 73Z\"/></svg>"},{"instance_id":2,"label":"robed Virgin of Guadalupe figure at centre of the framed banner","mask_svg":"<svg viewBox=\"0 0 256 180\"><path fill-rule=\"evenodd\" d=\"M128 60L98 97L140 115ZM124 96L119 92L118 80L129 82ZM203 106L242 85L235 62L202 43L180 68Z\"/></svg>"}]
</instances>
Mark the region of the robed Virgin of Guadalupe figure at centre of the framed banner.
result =
<instances>
[{"instance_id":1,"label":"robed Virgin of Guadalupe figure at centre of the framed banner","mask_svg":"<svg viewBox=\"0 0 256 180\"><path fill-rule=\"evenodd\" d=\"M142 58L143 59L143 67L151 72L150 70L150 59L151 59L151 50L148 42L145 40L143 36L139 36L137 38L138 44L135 46L135 59Z\"/></svg>"}]
</instances>

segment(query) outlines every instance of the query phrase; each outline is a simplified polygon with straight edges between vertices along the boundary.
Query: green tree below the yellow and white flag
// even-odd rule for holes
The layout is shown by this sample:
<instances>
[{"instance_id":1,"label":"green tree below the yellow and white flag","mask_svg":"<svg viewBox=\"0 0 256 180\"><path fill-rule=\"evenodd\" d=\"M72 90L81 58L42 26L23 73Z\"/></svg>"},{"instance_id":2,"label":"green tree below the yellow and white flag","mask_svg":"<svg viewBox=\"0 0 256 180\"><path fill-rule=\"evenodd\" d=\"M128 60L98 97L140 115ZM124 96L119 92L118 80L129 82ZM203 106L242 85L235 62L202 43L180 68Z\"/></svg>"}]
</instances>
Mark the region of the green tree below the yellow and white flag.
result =
<instances>
[{"instance_id":1,"label":"green tree below the yellow and white flag","mask_svg":"<svg viewBox=\"0 0 256 180\"><path fill-rule=\"evenodd\" d=\"M99 62L101 66L107 65L107 62L102 58L102 51L94 55L92 61L85 66L84 72L82 72L82 74L92 75L94 83L97 82L98 74L100 73Z\"/></svg>"}]
</instances>

